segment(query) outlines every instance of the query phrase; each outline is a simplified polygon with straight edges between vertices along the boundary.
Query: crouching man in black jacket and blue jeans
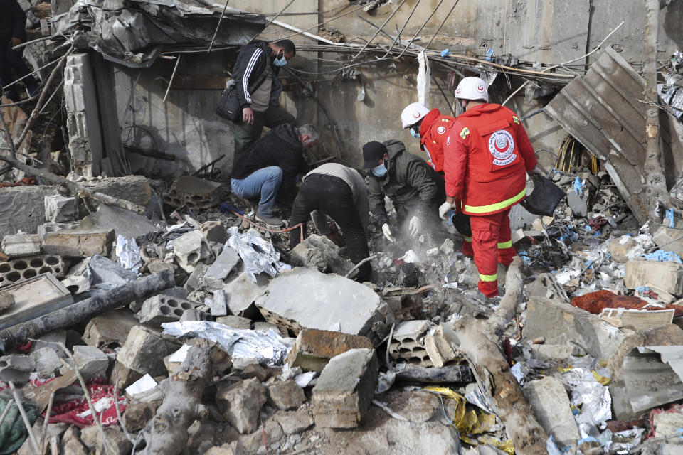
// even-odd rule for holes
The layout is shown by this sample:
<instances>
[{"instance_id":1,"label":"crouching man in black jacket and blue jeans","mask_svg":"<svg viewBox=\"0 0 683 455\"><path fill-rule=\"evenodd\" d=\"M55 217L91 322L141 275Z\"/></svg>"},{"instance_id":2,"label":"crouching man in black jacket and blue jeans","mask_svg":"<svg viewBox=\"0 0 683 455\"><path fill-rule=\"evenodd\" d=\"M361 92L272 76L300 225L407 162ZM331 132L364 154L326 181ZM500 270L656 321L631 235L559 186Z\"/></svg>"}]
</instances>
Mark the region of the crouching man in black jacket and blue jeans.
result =
<instances>
[{"instance_id":1,"label":"crouching man in black jacket and blue jeans","mask_svg":"<svg viewBox=\"0 0 683 455\"><path fill-rule=\"evenodd\" d=\"M256 218L281 226L272 215L278 192L287 198L296 194L297 175L306 171L304 151L314 146L319 132L313 125L283 124L255 141L242 155L230 175L233 193L240 198L260 196Z\"/></svg>"}]
</instances>

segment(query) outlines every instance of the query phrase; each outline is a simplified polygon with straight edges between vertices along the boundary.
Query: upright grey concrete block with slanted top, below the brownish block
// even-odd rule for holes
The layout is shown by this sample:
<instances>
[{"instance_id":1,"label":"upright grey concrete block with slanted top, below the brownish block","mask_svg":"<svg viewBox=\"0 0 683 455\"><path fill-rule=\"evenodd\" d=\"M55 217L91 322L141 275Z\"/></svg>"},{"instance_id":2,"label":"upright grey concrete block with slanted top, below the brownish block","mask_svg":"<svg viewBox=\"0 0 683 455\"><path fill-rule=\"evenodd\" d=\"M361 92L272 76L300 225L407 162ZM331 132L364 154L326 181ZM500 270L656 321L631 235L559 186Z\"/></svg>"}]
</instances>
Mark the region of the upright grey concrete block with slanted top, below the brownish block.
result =
<instances>
[{"instance_id":1,"label":"upright grey concrete block with slanted top, below the brownish block","mask_svg":"<svg viewBox=\"0 0 683 455\"><path fill-rule=\"evenodd\" d=\"M313 387L316 426L358 427L374 397L377 375L378 361L372 349L352 349L332 358Z\"/></svg>"}]
</instances>

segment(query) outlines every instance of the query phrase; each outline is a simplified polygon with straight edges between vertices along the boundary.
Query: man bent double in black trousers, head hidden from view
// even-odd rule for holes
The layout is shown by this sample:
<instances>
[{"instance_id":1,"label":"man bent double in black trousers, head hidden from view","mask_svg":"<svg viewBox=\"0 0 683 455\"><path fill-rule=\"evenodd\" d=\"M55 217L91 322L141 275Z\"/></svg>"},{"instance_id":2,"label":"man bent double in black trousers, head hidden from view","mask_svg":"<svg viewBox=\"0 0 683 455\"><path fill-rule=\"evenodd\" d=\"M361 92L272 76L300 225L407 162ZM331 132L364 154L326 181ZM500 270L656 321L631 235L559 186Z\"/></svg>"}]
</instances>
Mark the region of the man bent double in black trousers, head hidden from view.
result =
<instances>
[{"instance_id":1,"label":"man bent double in black trousers, head hidden from view","mask_svg":"<svg viewBox=\"0 0 683 455\"><path fill-rule=\"evenodd\" d=\"M349 256L354 264L370 255L366 230L370 220L368 188L361 174L343 164L327 163L307 173L294 201L290 226L303 223L306 235L306 221L312 215L313 223L321 234L327 234L329 215L339 225L346 240ZM290 248L299 245L300 231L290 233ZM356 279L366 282L372 272L370 262L358 269Z\"/></svg>"}]
</instances>

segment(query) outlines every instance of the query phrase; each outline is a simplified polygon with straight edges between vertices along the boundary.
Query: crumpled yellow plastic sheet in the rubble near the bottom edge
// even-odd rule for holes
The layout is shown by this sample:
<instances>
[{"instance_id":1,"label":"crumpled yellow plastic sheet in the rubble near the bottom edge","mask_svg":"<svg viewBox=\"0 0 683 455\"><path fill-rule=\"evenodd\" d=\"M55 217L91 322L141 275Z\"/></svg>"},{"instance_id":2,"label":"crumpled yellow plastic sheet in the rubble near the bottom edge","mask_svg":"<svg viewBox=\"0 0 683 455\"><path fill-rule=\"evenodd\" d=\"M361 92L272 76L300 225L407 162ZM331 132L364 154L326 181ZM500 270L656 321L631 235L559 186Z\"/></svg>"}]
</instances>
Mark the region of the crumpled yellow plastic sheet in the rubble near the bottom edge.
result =
<instances>
[{"instance_id":1,"label":"crumpled yellow plastic sheet in the rubble near the bottom edge","mask_svg":"<svg viewBox=\"0 0 683 455\"><path fill-rule=\"evenodd\" d=\"M455 412L452 422L460 433L460 440L471 446L491 444L510 455L514 454L512 441L499 441L494 437L483 435L484 433L489 432L496 424L496 416L494 416L494 414L488 414L487 412L478 409L468 411L465 397L448 387L425 387L423 390L438 393L442 397L450 398L455 401Z\"/></svg>"}]
</instances>

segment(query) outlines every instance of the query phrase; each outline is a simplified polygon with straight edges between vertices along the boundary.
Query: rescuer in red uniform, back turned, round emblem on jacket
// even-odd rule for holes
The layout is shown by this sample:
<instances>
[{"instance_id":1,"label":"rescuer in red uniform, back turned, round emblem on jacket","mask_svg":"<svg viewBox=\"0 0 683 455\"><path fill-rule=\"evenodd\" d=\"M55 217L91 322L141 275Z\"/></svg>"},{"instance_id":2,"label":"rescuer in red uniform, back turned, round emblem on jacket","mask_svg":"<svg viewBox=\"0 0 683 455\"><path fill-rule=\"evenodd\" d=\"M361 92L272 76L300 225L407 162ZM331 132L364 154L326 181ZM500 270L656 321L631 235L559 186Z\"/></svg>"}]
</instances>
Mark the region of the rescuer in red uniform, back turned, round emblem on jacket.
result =
<instances>
[{"instance_id":1,"label":"rescuer in red uniform, back turned, round emblem on jacket","mask_svg":"<svg viewBox=\"0 0 683 455\"><path fill-rule=\"evenodd\" d=\"M479 270L479 290L498 295L498 263L505 267L512 248L509 212L526 195L526 173L541 173L536 154L519 117L507 107L489 104L486 82L465 77L455 89L463 114L443 132L446 202L470 215L472 247Z\"/></svg>"}]
</instances>

